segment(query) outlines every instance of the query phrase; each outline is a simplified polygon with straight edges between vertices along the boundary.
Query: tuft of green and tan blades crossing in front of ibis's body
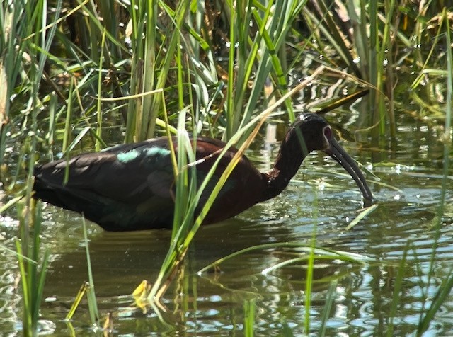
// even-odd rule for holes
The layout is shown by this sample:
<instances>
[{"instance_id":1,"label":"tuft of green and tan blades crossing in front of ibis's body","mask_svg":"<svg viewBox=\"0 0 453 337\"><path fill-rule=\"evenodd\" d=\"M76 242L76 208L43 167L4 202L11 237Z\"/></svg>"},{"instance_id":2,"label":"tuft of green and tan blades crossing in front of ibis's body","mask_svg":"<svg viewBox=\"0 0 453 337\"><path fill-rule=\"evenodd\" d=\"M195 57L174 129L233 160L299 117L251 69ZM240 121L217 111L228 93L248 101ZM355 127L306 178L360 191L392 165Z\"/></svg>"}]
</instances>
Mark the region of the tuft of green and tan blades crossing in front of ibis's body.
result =
<instances>
[{"instance_id":1,"label":"tuft of green and tan blades crossing in front of ibis's body","mask_svg":"<svg viewBox=\"0 0 453 337\"><path fill-rule=\"evenodd\" d=\"M191 142L185 129L181 127L181 121L185 120L184 114L180 113L180 124L178 127L178 171L176 172L176 199L175 199L175 219L173 220L173 232L171 246L168 249L168 253L164 262L162 263L162 268L159 272L159 275L154 282L153 286L148 295L148 300L151 306L155 306L156 302L159 302L162 295L168 288L168 280L173 279L178 266L180 265L182 259L185 256L185 253L188 251L190 243L197 230L200 228L203 220L205 219L207 213L210 210L210 207L214 203L215 198L222 189L224 183L228 179L231 172L234 170L234 167L241 159L241 156L244 154L248 146L251 144L253 139L258 134L260 127L263 125L265 118L273 112L277 106L279 106L285 99L289 98L292 94L297 93L302 87L306 86L306 83L299 84L282 96L280 100L276 101L268 109L264 110L262 113L253 118L248 125L242 127L238 130L229 142L222 149L222 152L219 153L218 159L212 165L210 171L207 172L205 179L200 182L200 186L197 186L195 169L196 164L195 152L192 147L196 146L195 142ZM249 130L252 130L251 132ZM226 169L219 177L219 180L215 184L211 194L207 198L205 205L203 205L200 210L200 214L195 216L195 210L197 208L198 202L202 196L203 191L205 190L208 183L210 183L214 172L217 169L217 164L219 164L220 159L223 154L226 153L234 144L239 142L239 139L243 137L244 134L248 134L246 142L244 142L241 147L239 147L234 157L231 159L230 163L226 166ZM174 154L173 154L174 155ZM191 164L186 164L186 158ZM188 171L194 170L193 174L190 175L190 183L188 183L189 175ZM186 186L190 186L189 189ZM182 198L182 199L180 199ZM182 219L182 222L180 221Z\"/></svg>"}]
</instances>

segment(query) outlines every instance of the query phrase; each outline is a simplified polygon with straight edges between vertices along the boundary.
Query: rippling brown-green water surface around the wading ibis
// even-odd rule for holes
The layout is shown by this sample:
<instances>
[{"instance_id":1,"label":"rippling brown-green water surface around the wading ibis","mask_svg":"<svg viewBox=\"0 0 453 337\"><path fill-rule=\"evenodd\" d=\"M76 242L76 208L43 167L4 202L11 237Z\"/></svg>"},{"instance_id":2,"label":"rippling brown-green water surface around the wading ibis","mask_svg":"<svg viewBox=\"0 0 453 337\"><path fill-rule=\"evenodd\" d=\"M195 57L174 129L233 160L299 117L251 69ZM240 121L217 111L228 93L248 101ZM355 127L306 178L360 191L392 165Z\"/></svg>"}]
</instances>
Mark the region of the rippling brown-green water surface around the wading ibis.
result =
<instances>
[{"instance_id":1,"label":"rippling brown-green water surface around the wading ibis","mask_svg":"<svg viewBox=\"0 0 453 337\"><path fill-rule=\"evenodd\" d=\"M341 123L347 121L340 120ZM401 123L403 125L403 123ZM409 125L405 122L404 125ZM148 334L150 331L228 334L243 331L243 303L256 299L256 333L304 333L306 264L299 262L271 273L265 268L285 261L294 251L263 249L225 261L215 272L197 276L197 271L218 258L240 249L276 242L311 244L357 253L376 263L357 265L338 261L316 263L309 312L311 332L321 326L321 314L328 304L331 282L333 302L326 333L334 336L380 335L389 324L399 262L406 249L401 305L396 308L395 336L413 333L420 319L423 299L435 295L441 280L449 273L453 260L453 212L447 205L442 217L437 248L435 278L428 285L428 268L435 237L437 202L442 176L439 158L442 147L436 126L417 125L401 131L395 152L374 152L379 161L370 169L379 177L372 190L379 207L359 224L345 231L361 207L355 183L346 178L340 166L321 154L306 160L304 167L282 195L244 212L235 219L200 229L183 273L165 297L165 322L156 314L132 309L134 287L156 278L168 247L169 232L103 232L94 224L88 227L91 263L96 295L103 315L113 312L118 334ZM429 145L428 145L429 144ZM344 144L346 147L348 144ZM415 145L415 146L414 146ZM355 154L354 149L348 152ZM366 163L371 152L362 150ZM259 150L251 153L261 163ZM323 161L323 166L314 165ZM395 164L379 164L389 161ZM396 164L397 163L397 164ZM262 164L262 169L267 169ZM452 200L448 191L447 200ZM448 208L449 207L449 208ZM43 239L52 251L45 297L55 297L42 307L42 317L55 324L55 331L68 331L62 321L82 282L87 280L81 218L74 213L47 206L43 211ZM2 244L14 249L11 239L16 224L1 218ZM15 256L0 251L0 330L14 331L21 320L20 297L16 289L18 270ZM453 329L453 302L447 300L432 322L430 333L445 334ZM74 325L88 333L88 312L82 305ZM52 325L51 324L51 325Z\"/></svg>"}]
</instances>

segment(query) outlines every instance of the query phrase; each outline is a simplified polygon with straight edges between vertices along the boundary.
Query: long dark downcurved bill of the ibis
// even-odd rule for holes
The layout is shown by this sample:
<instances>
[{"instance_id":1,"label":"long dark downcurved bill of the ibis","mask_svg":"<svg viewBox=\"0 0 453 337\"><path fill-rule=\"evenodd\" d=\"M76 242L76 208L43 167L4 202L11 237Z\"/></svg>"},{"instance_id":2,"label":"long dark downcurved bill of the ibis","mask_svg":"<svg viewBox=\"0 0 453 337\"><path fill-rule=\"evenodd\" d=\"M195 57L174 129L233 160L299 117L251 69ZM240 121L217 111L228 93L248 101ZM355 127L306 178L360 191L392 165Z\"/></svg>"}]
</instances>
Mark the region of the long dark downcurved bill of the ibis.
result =
<instances>
[{"instance_id":1,"label":"long dark downcurved bill of the ibis","mask_svg":"<svg viewBox=\"0 0 453 337\"><path fill-rule=\"evenodd\" d=\"M360 171L359 166L355 164L354 159L352 159L350 155L345 152L345 149L338 144L335 138L332 137L330 140L331 146L323 151L335 159L338 164L343 166L343 168L348 171L352 179L355 180L355 183L357 183L362 191L363 198L367 201L371 201L373 199L373 195L371 190L369 190L367 181L365 181L365 177L363 176L362 171Z\"/></svg>"}]
</instances>

